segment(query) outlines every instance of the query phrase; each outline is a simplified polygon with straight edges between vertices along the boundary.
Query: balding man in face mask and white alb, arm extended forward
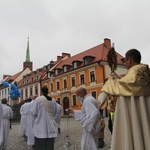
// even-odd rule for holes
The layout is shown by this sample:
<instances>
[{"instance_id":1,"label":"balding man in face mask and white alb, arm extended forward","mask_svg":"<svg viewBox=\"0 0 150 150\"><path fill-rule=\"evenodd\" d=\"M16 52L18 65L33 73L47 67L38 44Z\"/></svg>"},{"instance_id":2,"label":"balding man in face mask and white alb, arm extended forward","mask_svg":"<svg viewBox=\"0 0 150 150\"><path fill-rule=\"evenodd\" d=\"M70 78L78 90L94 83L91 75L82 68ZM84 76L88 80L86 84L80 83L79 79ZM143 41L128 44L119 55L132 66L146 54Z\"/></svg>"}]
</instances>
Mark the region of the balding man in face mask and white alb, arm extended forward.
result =
<instances>
[{"instance_id":1,"label":"balding man in face mask and white alb, arm extended forward","mask_svg":"<svg viewBox=\"0 0 150 150\"><path fill-rule=\"evenodd\" d=\"M97 100L87 93L84 87L76 90L76 95L82 101L81 110L68 109L68 113L74 113L75 119L81 121L83 134L81 150L97 150L100 131L100 112Z\"/></svg>"}]
</instances>

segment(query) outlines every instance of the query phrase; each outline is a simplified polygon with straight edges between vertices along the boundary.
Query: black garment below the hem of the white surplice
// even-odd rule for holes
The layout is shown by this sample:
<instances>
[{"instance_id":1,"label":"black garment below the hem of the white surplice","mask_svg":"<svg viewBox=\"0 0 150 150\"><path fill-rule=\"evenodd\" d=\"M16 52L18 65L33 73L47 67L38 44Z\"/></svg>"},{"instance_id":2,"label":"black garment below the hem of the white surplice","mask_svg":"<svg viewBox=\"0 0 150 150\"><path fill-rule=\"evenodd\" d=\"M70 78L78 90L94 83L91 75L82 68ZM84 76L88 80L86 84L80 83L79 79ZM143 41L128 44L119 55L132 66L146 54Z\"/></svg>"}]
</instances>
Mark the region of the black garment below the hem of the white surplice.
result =
<instances>
[{"instance_id":1,"label":"black garment below the hem of the white surplice","mask_svg":"<svg viewBox=\"0 0 150 150\"><path fill-rule=\"evenodd\" d=\"M54 150L54 138L35 137L35 150Z\"/></svg>"}]
</instances>

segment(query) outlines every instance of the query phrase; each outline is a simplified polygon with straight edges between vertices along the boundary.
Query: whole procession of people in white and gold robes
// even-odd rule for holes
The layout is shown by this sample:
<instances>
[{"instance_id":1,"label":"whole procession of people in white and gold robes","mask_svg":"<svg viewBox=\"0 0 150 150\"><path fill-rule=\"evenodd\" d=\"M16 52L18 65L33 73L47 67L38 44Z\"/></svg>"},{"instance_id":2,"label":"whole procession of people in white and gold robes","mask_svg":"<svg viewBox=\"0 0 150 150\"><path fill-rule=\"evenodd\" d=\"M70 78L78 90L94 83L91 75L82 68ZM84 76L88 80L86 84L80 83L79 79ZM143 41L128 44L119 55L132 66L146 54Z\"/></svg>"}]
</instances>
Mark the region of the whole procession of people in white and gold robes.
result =
<instances>
[{"instance_id":1,"label":"whole procession of people in white and gold robes","mask_svg":"<svg viewBox=\"0 0 150 150\"><path fill-rule=\"evenodd\" d=\"M103 110L108 109L108 128L112 134L111 150L149 150L150 147L150 69L141 63L136 49L126 52L127 73L121 78L112 74L96 100L84 87L76 89L82 102L81 110L67 109L83 127L81 150L97 150L105 145ZM61 133L62 106L48 96L48 88L41 88L42 95L27 99L20 108L19 136L35 150L54 150L55 138ZM104 105L106 104L106 105ZM0 103L0 145L6 150L10 119L13 117L7 99Z\"/></svg>"}]
</instances>

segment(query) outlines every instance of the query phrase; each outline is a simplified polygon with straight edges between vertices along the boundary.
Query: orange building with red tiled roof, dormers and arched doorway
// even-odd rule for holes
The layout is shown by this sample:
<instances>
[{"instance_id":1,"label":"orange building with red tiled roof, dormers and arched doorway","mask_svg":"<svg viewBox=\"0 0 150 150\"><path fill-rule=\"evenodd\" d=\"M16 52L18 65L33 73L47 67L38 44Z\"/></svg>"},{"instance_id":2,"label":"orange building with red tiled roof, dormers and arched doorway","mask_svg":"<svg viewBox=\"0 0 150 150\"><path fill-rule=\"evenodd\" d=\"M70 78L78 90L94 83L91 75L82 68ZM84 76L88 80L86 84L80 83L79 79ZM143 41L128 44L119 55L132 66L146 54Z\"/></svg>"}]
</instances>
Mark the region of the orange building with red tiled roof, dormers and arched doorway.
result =
<instances>
[{"instance_id":1,"label":"orange building with red tiled roof, dormers and arched doorway","mask_svg":"<svg viewBox=\"0 0 150 150\"><path fill-rule=\"evenodd\" d=\"M63 106L64 114L67 108L81 109L82 103L76 96L76 89L80 86L98 98L104 81L111 72L107 63L110 48L110 40L104 39L104 43L62 60L43 77L42 86L49 88L50 96ZM124 74L126 69L121 58L117 53L117 71Z\"/></svg>"}]
</instances>

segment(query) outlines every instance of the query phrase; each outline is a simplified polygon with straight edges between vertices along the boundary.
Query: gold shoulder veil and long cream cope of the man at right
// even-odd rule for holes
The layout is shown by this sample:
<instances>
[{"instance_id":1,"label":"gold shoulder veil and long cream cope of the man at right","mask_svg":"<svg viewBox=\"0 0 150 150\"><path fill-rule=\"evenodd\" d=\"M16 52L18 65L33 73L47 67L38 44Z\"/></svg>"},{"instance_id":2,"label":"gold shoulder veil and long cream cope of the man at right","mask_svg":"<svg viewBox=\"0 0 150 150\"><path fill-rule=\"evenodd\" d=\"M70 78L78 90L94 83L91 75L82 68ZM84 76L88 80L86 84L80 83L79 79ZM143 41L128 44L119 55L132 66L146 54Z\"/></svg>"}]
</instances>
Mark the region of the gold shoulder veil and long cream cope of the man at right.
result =
<instances>
[{"instance_id":1,"label":"gold shoulder veil and long cream cope of the man at right","mask_svg":"<svg viewBox=\"0 0 150 150\"><path fill-rule=\"evenodd\" d=\"M102 88L117 95L111 150L150 149L150 72L148 65L131 67L121 79L109 78ZM101 97L104 98L105 97ZM104 100L101 100L103 102Z\"/></svg>"}]
</instances>

